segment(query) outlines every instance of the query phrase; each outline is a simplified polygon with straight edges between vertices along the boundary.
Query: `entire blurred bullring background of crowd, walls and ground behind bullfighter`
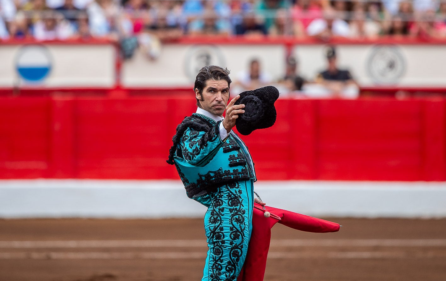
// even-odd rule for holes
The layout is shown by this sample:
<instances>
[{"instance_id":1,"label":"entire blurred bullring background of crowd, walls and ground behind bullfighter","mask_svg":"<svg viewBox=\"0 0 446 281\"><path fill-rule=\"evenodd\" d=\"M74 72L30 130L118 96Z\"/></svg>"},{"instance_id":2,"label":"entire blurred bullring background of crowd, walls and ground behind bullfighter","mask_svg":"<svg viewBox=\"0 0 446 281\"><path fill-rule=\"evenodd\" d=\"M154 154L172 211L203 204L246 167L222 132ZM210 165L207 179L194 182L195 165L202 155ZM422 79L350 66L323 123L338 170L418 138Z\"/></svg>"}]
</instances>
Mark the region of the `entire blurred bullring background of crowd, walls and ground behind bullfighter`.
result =
<instances>
[{"instance_id":1,"label":"entire blurred bullring background of crowd, walls and ground behind bullfighter","mask_svg":"<svg viewBox=\"0 0 446 281\"><path fill-rule=\"evenodd\" d=\"M169 245L205 246L205 209L165 160L205 65L231 96L280 91L275 125L243 138L262 199L350 224L327 244L279 228L296 252L273 248L265 280L296 280L296 259L327 273L301 280L446 278L444 0L0 0L0 61L1 280L200 278L206 248Z\"/></svg>"}]
</instances>

